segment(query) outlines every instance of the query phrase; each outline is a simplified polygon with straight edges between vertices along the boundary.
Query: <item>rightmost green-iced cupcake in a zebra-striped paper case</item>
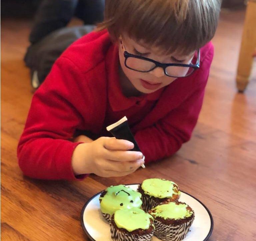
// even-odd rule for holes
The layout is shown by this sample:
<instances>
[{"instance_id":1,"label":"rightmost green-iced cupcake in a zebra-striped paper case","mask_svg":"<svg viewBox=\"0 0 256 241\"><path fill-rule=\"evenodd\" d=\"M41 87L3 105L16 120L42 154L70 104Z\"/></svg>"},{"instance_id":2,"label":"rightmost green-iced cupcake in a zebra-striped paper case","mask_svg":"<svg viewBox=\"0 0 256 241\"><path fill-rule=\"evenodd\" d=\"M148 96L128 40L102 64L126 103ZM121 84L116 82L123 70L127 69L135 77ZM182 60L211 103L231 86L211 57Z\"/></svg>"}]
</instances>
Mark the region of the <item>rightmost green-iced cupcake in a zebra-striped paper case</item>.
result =
<instances>
[{"instance_id":1,"label":"rightmost green-iced cupcake in a zebra-striped paper case","mask_svg":"<svg viewBox=\"0 0 256 241\"><path fill-rule=\"evenodd\" d=\"M154 217L155 235L165 241L179 241L186 237L195 214L182 202L165 202L151 209Z\"/></svg>"}]
</instances>

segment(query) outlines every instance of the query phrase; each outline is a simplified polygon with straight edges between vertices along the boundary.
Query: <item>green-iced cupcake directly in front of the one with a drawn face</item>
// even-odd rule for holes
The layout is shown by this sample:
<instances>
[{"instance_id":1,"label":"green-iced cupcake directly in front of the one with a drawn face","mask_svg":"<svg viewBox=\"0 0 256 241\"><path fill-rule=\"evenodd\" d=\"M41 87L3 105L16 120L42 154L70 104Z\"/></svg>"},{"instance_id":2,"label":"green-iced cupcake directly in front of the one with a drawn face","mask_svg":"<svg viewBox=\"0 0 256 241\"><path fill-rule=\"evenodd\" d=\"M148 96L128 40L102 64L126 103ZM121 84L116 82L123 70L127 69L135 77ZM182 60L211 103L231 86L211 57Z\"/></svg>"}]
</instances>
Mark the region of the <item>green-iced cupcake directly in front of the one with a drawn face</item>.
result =
<instances>
[{"instance_id":1,"label":"green-iced cupcake directly in front of the one with a drawn face","mask_svg":"<svg viewBox=\"0 0 256 241\"><path fill-rule=\"evenodd\" d=\"M111 218L114 241L149 241L154 234L153 217L140 208L119 209Z\"/></svg>"}]
</instances>

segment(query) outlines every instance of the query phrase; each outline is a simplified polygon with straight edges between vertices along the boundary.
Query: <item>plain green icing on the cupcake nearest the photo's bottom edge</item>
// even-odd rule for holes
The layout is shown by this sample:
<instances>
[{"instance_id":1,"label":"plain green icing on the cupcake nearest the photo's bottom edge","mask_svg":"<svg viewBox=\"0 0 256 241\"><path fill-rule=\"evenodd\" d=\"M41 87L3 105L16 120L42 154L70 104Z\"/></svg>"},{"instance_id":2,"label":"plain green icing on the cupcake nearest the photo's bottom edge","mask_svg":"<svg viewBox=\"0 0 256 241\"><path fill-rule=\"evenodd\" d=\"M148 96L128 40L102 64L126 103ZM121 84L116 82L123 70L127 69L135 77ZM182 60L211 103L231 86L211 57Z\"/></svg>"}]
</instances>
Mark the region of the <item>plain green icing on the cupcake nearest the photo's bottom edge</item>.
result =
<instances>
[{"instance_id":1,"label":"plain green icing on the cupcake nearest the photo's bottom edge","mask_svg":"<svg viewBox=\"0 0 256 241\"><path fill-rule=\"evenodd\" d=\"M148 229L150 219L153 220L153 217L139 208L117 210L114 215L116 226L129 232L139 228Z\"/></svg>"}]
</instances>

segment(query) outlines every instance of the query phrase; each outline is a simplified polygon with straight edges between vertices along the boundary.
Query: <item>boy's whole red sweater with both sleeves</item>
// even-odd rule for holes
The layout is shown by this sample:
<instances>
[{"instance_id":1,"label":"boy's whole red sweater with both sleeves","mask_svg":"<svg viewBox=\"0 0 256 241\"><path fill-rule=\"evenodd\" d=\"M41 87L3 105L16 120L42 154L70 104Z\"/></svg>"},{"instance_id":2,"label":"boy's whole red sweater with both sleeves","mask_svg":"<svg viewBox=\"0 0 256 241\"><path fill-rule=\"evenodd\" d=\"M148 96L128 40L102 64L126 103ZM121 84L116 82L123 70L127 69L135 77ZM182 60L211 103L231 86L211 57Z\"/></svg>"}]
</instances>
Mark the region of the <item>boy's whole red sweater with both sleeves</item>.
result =
<instances>
[{"instance_id":1,"label":"boy's whole red sweater with both sleeves","mask_svg":"<svg viewBox=\"0 0 256 241\"><path fill-rule=\"evenodd\" d=\"M107 31L73 43L55 62L35 92L18 144L19 166L41 179L76 179L71 158L76 130L109 135L106 126L124 115L145 162L175 153L190 139L202 106L213 58L211 43L201 48L200 68L140 97L125 97L118 76L118 48Z\"/></svg>"}]
</instances>

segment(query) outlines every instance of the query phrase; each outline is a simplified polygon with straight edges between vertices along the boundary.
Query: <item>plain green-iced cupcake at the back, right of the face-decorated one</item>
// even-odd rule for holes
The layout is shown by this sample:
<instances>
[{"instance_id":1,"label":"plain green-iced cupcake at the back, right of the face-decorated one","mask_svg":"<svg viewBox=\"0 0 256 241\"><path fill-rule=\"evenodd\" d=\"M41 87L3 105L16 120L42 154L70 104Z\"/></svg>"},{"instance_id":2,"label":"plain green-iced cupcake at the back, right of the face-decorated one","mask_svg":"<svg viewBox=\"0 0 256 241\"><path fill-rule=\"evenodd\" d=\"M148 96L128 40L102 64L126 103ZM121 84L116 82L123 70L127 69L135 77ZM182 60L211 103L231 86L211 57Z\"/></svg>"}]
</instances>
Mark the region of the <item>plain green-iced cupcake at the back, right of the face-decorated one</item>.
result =
<instances>
[{"instance_id":1,"label":"plain green-iced cupcake at the back, right of the face-decorated one","mask_svg":"<svg viewBox=\"0 0 256 241\"><path fill-rule=\"evenodd\" d=\"M142 195L142 208L148 212L162 202L178 201L180 191L176 183L165 179L146 179L138 187Z\"/></svg>"}]
</instances>

